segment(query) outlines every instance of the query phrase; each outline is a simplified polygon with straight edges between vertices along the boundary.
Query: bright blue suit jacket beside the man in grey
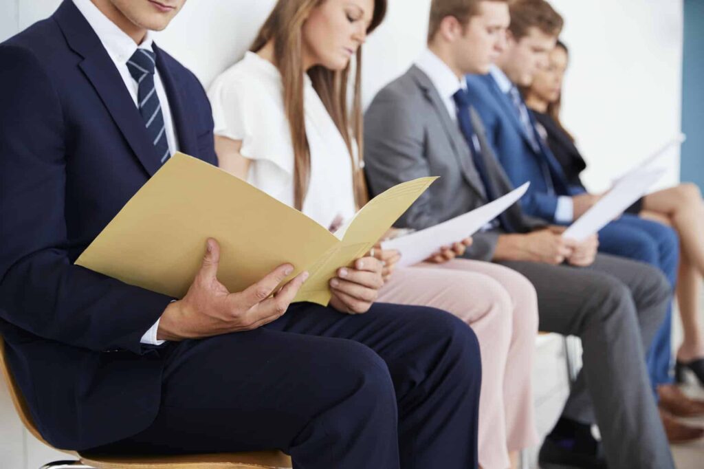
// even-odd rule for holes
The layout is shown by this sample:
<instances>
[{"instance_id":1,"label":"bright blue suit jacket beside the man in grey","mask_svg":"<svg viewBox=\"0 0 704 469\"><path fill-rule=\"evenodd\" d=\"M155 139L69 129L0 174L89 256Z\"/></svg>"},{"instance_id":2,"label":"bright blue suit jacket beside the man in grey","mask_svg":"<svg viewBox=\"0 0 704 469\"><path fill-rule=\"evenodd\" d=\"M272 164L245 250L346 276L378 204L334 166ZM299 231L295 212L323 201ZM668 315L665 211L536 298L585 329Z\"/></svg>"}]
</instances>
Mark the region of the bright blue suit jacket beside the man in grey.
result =
<instances>
[{"instance_id":1,"label":"bright blue suit jacket beside the man in grey","mask_svg":"<svg viewBox=\"0 0 704 469\"><path fill-rule=\"evenodd\" d=\"M568 185L560 163L539 136L540 151L534 151L510 97L501 92L491 75L467 75L467 87L484 121L489 144L509 179L515 187L531 183L521 199L524 212L554 222L558 196L577 194ZM554 193L549 192L543 163L549 169Z\"/></svg>"}]
</instances>

